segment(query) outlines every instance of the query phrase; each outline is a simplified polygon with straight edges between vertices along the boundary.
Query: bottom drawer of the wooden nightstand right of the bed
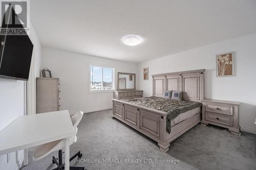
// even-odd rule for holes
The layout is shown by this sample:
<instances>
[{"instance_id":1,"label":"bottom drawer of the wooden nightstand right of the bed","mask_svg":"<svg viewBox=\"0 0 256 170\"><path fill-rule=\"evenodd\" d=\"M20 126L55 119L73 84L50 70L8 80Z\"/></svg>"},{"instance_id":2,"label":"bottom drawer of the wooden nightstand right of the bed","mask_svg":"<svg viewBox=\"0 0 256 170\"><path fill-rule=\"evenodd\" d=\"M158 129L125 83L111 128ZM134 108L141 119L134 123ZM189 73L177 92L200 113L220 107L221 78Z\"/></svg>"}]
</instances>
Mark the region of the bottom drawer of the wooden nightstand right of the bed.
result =
<instances>
[{"instance_id":1,"label":"bottom drawer of the wooden nightstand right of the bed","mask_svg":"<svg viewBox=\"0 0 256 170\"><path fill-rule=\"evenodd\" d=\"M233 117L231 116L225 116L225 115L220 115L216 113L206 112L205 119L211 122L233 126Z\"/></svg>"}]
</instances>

